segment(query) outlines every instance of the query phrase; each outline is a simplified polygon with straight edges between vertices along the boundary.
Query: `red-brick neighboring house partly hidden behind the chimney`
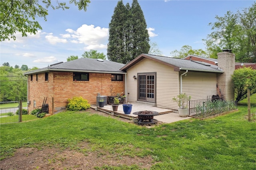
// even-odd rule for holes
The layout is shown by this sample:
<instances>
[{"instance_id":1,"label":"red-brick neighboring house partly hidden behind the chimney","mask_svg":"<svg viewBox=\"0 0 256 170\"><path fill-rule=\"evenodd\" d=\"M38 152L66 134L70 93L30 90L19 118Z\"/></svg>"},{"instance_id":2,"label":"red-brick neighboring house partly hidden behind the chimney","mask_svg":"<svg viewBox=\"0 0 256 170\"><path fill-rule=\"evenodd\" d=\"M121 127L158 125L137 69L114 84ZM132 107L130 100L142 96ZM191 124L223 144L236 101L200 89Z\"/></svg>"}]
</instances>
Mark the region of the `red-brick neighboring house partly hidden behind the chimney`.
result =
<instances>
[{"instance_id":1,"label":"red-brick neighboring house partly hidden behind the chimney","mask_svg":"<svg viewBox=\"0 0 256 170\"><path fill-rule=\"evenodd\" d=\"M215 64L218 65L218 59L211 59L206 57L200 57L196 55L188 55L183 58L184 60L192 60L192 61L201 61L204 63ZM256 63L238 63L235 62L235 69L242 68L243 66L252 67L252 69L256 70Z\"/></svg>"}]
</instances>

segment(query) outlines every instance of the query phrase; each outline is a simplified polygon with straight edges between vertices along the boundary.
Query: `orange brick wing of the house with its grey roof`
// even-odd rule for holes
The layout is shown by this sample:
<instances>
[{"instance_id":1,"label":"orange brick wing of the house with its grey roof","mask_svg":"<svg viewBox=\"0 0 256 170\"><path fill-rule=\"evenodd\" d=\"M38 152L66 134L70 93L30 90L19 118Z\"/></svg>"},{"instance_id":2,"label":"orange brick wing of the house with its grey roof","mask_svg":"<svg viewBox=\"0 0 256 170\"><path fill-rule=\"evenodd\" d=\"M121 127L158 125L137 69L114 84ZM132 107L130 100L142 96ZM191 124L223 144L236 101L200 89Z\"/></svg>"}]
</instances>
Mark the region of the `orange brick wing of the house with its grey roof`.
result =
<instances>
[{"instance_id":1,"label":"orange brick wing of the house with its grey roof","mask_svg":"<svg viewBox=\"0 0 256 170\"><path fill-rule=\"evenodd\" d=\"M125 90L126 72L119 70L124 64L102 59L81 58L56 63L26 72L28 77L28 110L46 104L49 113L65 109L67 99L82 96L96 104L96 96L112 96ZM53 109L54 108L54 109Z\"/></svg>"}]
</instances>

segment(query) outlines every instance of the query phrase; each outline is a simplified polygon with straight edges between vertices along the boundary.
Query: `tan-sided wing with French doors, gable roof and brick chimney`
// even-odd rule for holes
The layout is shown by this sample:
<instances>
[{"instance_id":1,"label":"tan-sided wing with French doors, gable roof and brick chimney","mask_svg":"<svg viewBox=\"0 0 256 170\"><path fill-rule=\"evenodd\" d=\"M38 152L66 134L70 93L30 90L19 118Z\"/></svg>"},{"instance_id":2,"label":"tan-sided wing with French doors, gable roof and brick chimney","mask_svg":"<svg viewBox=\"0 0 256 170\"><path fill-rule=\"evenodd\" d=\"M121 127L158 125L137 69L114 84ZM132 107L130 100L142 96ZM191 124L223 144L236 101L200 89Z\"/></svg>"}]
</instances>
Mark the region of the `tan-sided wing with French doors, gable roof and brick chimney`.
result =
<instances>
[{"instance_id":1,"label":"tan-sided wing with French doors, gable roof and brick chimney","mask_svg":"<svg viewBox=\"0 0 256 170\"><path fill-rule=\"evenodd\" d=\"M178 108L172 101L180 93L192 100L217 94L216 84L225 100L234 100L231 75L235 55L218 53L219 64L202 63L156 55L141 54L120 70L127 72L126 93L129 102L156 107Z\"/></svg>"}]
</instances>

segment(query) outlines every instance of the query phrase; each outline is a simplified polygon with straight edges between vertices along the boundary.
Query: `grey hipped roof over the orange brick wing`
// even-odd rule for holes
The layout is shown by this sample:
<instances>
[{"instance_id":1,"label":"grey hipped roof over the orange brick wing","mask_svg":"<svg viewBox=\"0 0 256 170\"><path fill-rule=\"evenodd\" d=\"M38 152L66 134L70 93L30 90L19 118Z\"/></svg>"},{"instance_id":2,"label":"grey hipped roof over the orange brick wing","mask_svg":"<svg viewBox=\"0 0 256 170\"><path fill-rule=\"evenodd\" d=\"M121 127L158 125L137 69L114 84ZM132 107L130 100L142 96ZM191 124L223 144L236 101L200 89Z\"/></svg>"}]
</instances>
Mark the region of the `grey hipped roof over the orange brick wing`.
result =
<instances>
[{"instance_id":1,"label":"grey hipped roof over the orange brick wing","mask_svg":"<svg viewBox=\"0 0 256 170\"><path fill-rule=\"evenodd\" d=\"M25 72L24 75L35 74L48 71L64 71L64 72L100 72L100 73L117 73L124 74L119 70L125 64L102 59L81 58L65 63L52 64L45 68Z\"/></svg>"}]
</instances>

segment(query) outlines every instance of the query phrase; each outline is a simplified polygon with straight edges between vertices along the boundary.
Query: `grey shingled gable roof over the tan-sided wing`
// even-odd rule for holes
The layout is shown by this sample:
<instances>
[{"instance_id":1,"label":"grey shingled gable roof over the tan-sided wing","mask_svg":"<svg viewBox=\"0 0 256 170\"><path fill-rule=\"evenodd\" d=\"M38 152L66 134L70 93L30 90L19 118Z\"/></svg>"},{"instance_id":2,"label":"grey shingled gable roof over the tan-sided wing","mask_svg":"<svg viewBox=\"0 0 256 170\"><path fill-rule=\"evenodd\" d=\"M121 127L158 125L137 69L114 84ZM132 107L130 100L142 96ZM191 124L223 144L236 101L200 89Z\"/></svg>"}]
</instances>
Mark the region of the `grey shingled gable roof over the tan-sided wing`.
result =
<instances>
[{"instance_id":1,"label":"grey shingled gable roof over the tan-sided wing","mask_svg":"<svg viewBox=\"0 0 256 170\"><path fill-rule=\"evenodd\" d=\"M208 64L208 63L183 60L183 59L177 59L172 57L149 55L149 54L141 54L140 56L132 60L130 63L120 68L120 70L127 70L128 68L130 68L131 66L138 63L144 58L152 59L154 61L174 67L174 71L191 70L191 71L202 71L202 72L220 72L220 73L223 72L220 68L218 68L218 66Z\"/></svg>"}]
</instances>

